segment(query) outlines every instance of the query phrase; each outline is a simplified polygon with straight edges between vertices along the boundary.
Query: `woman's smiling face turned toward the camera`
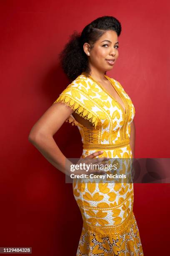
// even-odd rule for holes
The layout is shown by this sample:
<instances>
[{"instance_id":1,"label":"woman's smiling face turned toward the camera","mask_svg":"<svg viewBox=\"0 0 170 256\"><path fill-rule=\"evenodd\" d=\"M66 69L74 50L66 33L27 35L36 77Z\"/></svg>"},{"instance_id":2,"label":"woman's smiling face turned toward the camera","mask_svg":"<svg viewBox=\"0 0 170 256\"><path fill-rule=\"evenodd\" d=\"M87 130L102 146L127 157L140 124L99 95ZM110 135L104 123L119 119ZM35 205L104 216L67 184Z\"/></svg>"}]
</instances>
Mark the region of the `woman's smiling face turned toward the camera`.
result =
<instances>
[{"instance_id":1,"label":"woman's smiling face turned toward the camera","mask_svg":"<svg viewBox=\"0 0 170 256\"><path fill-rule=\"evenodd\" d=\"M117 33L112 30L106 31L95 42L93 48L86 52L89 57L90 68L93 66L101 72L111 70L119 56L118 47ZM107 61L109 59L110 61Z\"/></svg>"}]
</instances>

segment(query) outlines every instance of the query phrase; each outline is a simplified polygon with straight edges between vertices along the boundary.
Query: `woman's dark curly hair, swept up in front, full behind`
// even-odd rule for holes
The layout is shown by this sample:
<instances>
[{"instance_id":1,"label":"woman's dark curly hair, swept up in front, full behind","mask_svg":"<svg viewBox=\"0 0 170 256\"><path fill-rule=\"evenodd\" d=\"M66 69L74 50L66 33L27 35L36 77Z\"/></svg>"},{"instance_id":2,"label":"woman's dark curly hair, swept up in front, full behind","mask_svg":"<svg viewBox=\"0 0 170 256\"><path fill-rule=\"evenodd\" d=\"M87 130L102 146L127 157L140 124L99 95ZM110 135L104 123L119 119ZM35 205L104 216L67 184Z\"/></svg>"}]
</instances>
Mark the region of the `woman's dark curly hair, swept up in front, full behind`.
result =
<instances>
[{"instance_id":1,"label":"woman's dark curly hair, swept up in front, full behind","mask_svg":"<svg viewBox=\"0 0 170 256\"><path fill-rule=\"evenodd\" d=\"M103 16L85 26L81 34L74 31L70 36L70 40L59 54L59 59L63 71L71 81L82 72L90 73L89 61L83 45L88 43L92 49L95 42L107 30L113 30L117 36L120 36L122 28L119 20L112 16Z\"/></svg>"}]
</instances>

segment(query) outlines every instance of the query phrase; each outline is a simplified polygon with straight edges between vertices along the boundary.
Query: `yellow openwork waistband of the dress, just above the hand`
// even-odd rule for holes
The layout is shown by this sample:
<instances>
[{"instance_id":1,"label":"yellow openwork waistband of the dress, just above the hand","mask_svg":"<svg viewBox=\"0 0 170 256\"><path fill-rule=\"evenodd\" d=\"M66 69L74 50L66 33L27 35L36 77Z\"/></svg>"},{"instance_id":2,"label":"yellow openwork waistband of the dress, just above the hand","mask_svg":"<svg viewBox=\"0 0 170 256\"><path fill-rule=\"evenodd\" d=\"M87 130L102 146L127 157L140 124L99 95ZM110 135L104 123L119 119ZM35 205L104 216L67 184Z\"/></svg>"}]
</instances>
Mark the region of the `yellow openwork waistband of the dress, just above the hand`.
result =
<instances>
[{"instance_id":1,"label":"yellow openwork waistband of the dress, just above the hand","mask_svg":"<svg viewBox=\"0 0 170 256\"><path fill-rule=\"evenodd\" d=\"M113 149L113 148L122 148L124 146L127 146L130 143L130 139L127 138L124 141L121 141L119 143L115 143L115 144L101 144L101 143L84 143L83 149L85 150L93 150L93 149L105 149L105 150L109 150L109 149Z\"/></svg>"}]
</instances>

